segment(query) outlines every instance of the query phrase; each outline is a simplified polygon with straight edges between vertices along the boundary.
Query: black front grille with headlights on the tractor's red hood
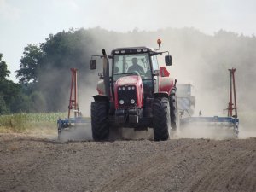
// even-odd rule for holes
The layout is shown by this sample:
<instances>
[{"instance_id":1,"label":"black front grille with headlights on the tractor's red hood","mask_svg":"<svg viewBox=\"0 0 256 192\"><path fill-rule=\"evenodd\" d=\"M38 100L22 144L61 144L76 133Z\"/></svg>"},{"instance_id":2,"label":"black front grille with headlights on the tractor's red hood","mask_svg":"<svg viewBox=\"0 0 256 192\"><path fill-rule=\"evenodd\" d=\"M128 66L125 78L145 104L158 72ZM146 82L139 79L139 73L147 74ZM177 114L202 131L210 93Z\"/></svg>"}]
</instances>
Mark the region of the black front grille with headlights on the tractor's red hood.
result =
<instances>
[{"instance_id":1,"label":"black front grille with headlights on the tractor's red hood","mask_svg":"<svg viewBox=\"0 0 256 192\"><path fill-rule=\"evenodd\" d=\"M137 105L137 94L135 86L119 86L118 87L118 103L120 108L125 107L134 107ZM131 100L134 100L134 104L131 103ZM124 104L120 104L120 100L124 101Z\"/></svg>"}]
</instances>

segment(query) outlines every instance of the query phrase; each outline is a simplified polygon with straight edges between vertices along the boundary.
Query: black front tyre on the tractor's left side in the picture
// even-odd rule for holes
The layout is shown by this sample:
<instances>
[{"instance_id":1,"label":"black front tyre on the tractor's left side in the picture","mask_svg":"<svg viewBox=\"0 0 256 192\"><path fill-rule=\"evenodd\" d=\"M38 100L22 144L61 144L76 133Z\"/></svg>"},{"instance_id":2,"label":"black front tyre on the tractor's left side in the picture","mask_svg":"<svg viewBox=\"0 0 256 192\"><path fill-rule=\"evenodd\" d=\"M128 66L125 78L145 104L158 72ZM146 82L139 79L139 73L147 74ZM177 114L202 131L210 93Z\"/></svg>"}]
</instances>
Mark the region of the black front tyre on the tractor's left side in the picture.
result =
<instances>
[{"instance_id":1,"label":"black front tyre on the tractor's left side in the picture","mask_svg":"<svg viewBox=\"0 0 256 192\"><path fill-rule=\"evenodd\" d=\"M109 137L108 102L92 102L90 104L92 137L95 141Z\"/></svg>"}]
</instances>

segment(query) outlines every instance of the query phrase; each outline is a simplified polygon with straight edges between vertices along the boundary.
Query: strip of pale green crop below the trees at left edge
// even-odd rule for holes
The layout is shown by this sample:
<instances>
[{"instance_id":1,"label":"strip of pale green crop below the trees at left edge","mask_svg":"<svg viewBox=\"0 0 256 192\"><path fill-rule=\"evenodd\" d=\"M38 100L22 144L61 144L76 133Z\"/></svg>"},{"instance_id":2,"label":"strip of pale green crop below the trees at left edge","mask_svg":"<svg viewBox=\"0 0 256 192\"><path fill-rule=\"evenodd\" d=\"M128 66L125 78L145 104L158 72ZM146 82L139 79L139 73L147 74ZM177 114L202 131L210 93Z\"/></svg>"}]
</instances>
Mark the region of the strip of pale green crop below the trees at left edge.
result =
<instances>
[{"instance_id":1,"label":"strip of pale green crop below the trees at left edge","mask_svg":"<svg viewBox=\"0 0 256 192\"><path fill-rule=\"evenodd\" d=\"M15 113L0 115L0 132L56 131L57 120L67 113Z\"/></svg>"}]
</instances>

